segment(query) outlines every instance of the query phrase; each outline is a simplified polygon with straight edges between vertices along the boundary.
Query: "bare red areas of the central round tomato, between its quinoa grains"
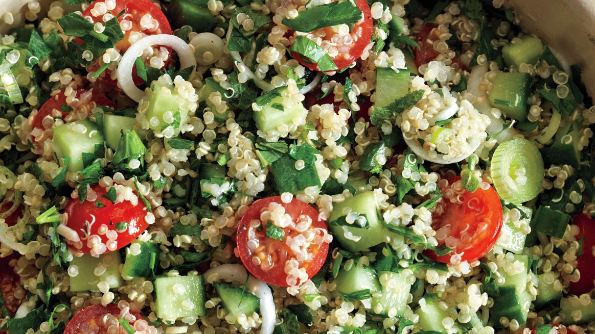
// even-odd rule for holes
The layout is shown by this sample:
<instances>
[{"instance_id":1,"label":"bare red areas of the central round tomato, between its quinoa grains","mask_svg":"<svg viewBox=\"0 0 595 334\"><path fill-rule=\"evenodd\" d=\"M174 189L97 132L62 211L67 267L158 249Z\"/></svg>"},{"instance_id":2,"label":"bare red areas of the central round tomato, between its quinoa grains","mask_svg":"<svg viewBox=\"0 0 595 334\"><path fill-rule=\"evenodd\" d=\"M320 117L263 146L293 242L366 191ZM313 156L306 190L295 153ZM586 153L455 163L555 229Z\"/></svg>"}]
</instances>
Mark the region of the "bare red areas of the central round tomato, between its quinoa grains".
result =
<instances>
[{"instance_id":1,"label":"bare red areas of the central round tomato, between its quinoa grains","mask_svg":"<svg viewBox=\"0 0 595 334\"><path fill-rule=\"evenodd\" d=\"M267 208L271 202L280 203L285 208L286 214L289 214L292 217L293 222L296 222L297 217L300 215L308 215L312 219L312 227L321 228L325 232L328 231L328 228L327 224L318 218L317 209L308 205L308 203L302 202L295 198L293 198L290 203L281 202L281 196L263 198L252 203L248 210L246 210L238 224L236 235L237 250L239 252L240 259L242 260L244 266L246 266L246 269L248 269L252 275L261 281L268 284L277 285L279 287L287 287L289 285L287 284L287 273L285 273L284 270L285 262L275 262L273 263L272 268L268 269L268 271L265 271L261 268L261 266L255 265L252 262L253 255L248 249L249 231L253 230L253 228L248 228L250 221L260 220L261 210ZM264 225L266 225L266 222ZM289 228L284 228L284 231L287 238L289 234ZM262 233L264 234L264 229ZM295 230L293 230L292 235L294 234L297 234ZM264 240L259 239L259 241L261 242L261 245L267 248L267 250L278 250L283 252L284 250L289 249L289 247L284 243L286 238L284 238L283 241L272 238L264 238ZM319 247L316 247L314 250L310 251L314 251L316 254L311 262L304 264L304 266L307 265L306 273L308 273L308 278L312 278L312 276L314 276L320 270L320 268L322 268L322 265L324 265L324 261L328 254L328 243L324 242ZM301 283L303 282L297 282L297 285Z\"/></svg>"}]
</instances>

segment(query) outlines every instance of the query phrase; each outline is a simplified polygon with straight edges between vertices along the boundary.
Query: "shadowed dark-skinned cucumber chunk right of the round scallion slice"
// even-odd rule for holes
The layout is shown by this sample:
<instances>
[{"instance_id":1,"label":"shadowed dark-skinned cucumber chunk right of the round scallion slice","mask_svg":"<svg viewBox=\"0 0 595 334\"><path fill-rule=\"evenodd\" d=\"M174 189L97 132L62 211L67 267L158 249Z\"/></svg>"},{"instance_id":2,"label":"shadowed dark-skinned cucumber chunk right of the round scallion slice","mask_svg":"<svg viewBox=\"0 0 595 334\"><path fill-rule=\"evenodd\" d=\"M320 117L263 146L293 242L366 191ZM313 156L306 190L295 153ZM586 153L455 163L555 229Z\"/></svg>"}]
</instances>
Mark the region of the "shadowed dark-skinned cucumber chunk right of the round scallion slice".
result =
<instances>
[{"instance_id":1,"label":"shadowed dark-skinned cucumber chunk right of the round scallion slice","mask_svg":"<svg viewBox=\"0 0 595 334\"><path fill-rule=\"evenodd\" d=\"M578 168L581 164L580 125L566 122L556 132L550 147L541 149L546 166L568 164Z\"/></svg>"}]
</instances>

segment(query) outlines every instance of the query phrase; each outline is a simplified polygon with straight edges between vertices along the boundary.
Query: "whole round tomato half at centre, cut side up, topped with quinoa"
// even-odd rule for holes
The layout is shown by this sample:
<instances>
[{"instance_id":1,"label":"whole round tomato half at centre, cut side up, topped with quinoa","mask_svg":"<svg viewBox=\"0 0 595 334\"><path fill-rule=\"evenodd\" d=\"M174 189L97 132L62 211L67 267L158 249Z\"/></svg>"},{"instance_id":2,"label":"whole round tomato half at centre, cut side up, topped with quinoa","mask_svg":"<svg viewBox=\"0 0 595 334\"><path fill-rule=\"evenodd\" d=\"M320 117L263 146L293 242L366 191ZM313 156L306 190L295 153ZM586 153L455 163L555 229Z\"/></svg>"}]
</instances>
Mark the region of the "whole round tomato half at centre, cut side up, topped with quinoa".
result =
<instances>
[{"instance_id":1,"label":"whole round tomato half at centre, cut side up, topped with quinoa","mask_svg":"<svg viewBox=\"0 0 595 334\"><path fill-rule=\"evenodd\" d=\"M265 234L271 211L279 212L284 218L281 221L287 224L282 241ZM273 196L250 205L237 227L236 241L240 259L252 275L268 284L287 287L306 281L297 278L294 284L287 282L292 278L286 273L291 263L299 263L299 270L305 271L308 279L320 270L328 253L328 237L326 223L318 218L318 211L312 206L295 198L283 203L281 196ZM297 247L299 255L296 256L295 246L300 239L306 241L302 247ZM298 257L303 259L298 260Z\"/></svg>"}]
</instances>

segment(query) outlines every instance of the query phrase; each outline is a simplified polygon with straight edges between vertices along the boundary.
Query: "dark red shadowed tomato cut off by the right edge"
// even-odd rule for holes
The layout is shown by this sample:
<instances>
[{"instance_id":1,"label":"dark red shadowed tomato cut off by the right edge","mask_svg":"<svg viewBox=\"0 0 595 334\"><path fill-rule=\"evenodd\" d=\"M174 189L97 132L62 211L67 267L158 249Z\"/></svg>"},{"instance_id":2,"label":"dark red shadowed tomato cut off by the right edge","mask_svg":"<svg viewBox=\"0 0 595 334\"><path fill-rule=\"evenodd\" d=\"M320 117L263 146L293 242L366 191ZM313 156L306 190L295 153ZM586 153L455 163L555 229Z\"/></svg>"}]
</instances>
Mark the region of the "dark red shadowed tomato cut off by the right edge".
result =
<instances>
[{"instance_id":1,"label":"dark red shadowed tomato cut off by the right edge","mask_svg":"<svg viewBox=\"0 0 595 334\"><path fill-rule=\"evenodd\" d=\"M575 215L572 222L577 225L579 232L577 240L583 238L583 255L577 258L577 269L581 273L578 282L570 283L570 293L585 294L593 290L595 280L595 220L587 214Z\"/></svg>"}]
</instances>

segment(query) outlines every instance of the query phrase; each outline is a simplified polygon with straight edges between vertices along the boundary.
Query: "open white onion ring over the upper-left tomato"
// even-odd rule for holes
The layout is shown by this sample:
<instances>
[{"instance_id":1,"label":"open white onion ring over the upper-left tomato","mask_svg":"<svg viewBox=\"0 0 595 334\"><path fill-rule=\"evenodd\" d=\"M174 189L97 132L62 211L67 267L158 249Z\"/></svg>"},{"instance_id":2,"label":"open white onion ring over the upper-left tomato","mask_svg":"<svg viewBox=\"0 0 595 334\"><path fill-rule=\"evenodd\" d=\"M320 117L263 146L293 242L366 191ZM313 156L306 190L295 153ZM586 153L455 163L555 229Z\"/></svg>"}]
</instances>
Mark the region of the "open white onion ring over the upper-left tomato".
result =
<instances>
[{"instance_id":1,"label":"open white onion ring over the upper-left tomato","mask_svg":"<svg viewBox=\"0 0 595 334\"><path fill-rule=\"evenodd\" d=\"M145 96L145 92L134 85L134 82L132 81L132 68L136 58L139 58L139 56L142 55L143 50L154 45L164 45L174 49L180 58L181 69L191 66L196 67L194 53L192 53L188 44L180 39L180 37L168 34L158 34L139 39L136 43L132 44L126 52L124 52L117 69L118 84L120 84L120 87L122 87L127 96L137 102Z\"/></svg>"}]
</instances>

